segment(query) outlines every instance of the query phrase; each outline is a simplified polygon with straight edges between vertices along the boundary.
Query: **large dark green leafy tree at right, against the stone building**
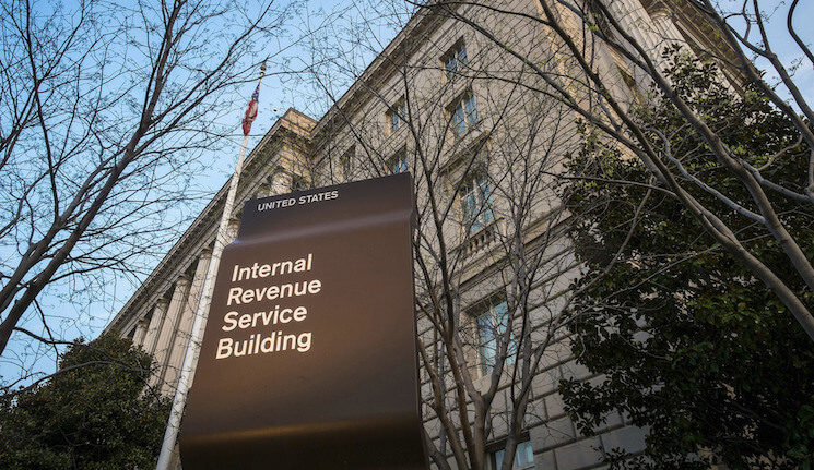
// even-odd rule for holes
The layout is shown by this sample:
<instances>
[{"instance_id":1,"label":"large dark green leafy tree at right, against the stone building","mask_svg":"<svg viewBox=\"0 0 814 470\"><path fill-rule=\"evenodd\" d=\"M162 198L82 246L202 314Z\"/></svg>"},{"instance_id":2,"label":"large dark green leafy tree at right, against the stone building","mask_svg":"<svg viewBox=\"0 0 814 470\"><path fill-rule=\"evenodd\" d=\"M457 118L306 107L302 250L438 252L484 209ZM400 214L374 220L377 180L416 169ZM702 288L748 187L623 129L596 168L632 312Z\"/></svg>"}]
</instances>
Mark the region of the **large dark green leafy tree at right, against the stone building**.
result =
<instances>
[{"instance_id":1,"label":"large dark green leafy tree at right, against the stone building","mask_svg":"<svg viewBox=\"0 0 814 470\"><path fill-rule=\"evenodd\" d=\"M711 65L673 58L669 73L677 89L740 158L758 167L794 143L791 124L757 94L732 96ZM666 99L641 110L639 119L668 137L672 155L691 173L748 207L740 183L718 167ZM653 145L663 148L660 137ZM801 190L806 152L794 147L763 173ZM659 185L638 160L621 158L593 137L571 165L589 177ZM814 306L764 227L692 183L685 186ZM814 345L783 304L663 191L588 180L566 191L575 213L587 209L573 233L577 256L589 267L577 282L587 289L569 313L573 351L602 375L590 383L563 382L561 389L585 433L613 410L650 429L645 454L630 459L620 451L609 459L613 468L814 468ZM814 207L769 196L814 258ZM630 230L629 243L601 276Z\"/></svg>"}]
</instances>

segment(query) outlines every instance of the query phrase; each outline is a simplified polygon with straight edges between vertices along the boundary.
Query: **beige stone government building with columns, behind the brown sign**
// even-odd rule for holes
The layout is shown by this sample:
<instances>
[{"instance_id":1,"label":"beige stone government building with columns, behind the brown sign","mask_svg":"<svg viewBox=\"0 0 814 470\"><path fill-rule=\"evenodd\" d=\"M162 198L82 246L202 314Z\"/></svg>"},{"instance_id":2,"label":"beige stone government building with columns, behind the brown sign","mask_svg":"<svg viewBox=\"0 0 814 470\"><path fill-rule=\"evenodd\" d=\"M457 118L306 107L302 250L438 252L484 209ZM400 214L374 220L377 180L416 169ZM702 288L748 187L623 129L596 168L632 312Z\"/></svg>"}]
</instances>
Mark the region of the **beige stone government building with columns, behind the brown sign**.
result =
<instances>
[{"instance_id":1,"label":"beige stone government building with columns, behind the brown sign","mask_svg":"<svg viewBox=\"0 0 814 470\"><path fill-rule=\"evenodd\" d=\"M692 9L607 4L653 57L671 43L709 49ZM500 9L514 13L423 11L321 119L286 111L246 160L233 229L250 198L410 171L423 412L435 458L476 466L456 461L456 450L483 443L475 454L496 468L510 444L515 468L602 468L611 449L642 449L645 430L611 415L583 437L557 393L562 378L592 377L570 357L561 315L579 266L564 236L574 214L558 200L557 174L582 137L580 117L553 97L555 87L594 104L567 49L539 21L539 4ZM644 99L648 81L624 55L587 37L582 47L620 103ZM166 394L178 379L225 195L226 186L109 325L155 354L153 385Z\"/></svg>"}]
</instances>

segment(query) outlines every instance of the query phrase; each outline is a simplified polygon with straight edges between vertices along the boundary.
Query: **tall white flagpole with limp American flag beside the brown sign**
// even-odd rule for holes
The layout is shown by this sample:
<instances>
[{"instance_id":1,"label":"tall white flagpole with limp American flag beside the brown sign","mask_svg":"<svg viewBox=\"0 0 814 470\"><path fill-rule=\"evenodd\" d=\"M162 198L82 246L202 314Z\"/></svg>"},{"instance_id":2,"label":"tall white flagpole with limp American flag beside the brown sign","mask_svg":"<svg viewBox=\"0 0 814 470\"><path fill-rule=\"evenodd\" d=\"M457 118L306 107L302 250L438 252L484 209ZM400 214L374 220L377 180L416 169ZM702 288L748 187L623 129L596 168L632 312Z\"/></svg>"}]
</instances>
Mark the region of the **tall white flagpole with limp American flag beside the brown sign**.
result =
<instances>
[{"instance_id":1,"label":"tall white flagpole with limp American flag beside the brown sign","mask_svg":"<svg viewBox=\"0 0 814 470\"><path fill-rule=\"evenodd\" d=\"M263 75L266 75L266 62L260 65L260 81L258 82L257 89L252 95L252 100L256 99L257 94L260 91L260 85L263 83ZM255 104L255 106L257 106L257 104ZM212 301L212 290L214 288L215 277L217 276L217 267L221 264L221 254L226 245L226 232L232 216L232 208L235 205L237 183L240 179L243 160L246 155L246 147L249 143L248 129L251 128L251 121L255 116L257 116L257 109L253 110L255 116L249 116L250 111L251 101L249 101L249 109L246 111L246 118L244 119L244 137L243 144L240 145L240 154L237 157L237 164L235 164L235 172L229 179L229 191L226 196L226 203L223 206L223 213L221 214L221 225L217 227L217 234L215 234L215 243L212 248L212 257L210 258L209 267L207 269L207 277L203 279L201 298L198 301L198 309L196 310L194 322L192 323L189 345L187 346L187 352L184 355L184 365L181 366L181 374L178 378L178 388L176 389L175 398L173 399L173 408L169 412L167 429L164 432L164 443L161 447L161 454L158 455L158 462L155 466L155 470L170 470L169 465L173 461L173 451L175 449L175 443L178 439L178 430L180 429L184 408L187 405L187 393L189 391L189 387L192 385L194 369L198 364L198 352L200 351L203 330L207 326L207 316L209 315L209 306ZM248 129L246 123L247 120Z\"/></svg>"}]
</instances>

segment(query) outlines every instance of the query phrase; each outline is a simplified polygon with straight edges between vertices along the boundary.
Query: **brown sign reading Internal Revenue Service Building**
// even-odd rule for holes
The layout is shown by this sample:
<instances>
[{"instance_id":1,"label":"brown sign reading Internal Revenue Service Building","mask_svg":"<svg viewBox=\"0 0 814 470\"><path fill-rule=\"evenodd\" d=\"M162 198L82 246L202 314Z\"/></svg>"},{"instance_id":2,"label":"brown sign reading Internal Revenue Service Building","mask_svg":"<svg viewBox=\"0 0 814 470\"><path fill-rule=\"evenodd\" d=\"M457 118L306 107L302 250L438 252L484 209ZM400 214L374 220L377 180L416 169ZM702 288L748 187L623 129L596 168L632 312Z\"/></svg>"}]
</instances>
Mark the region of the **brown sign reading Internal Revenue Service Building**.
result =
<instances>
[{"instance_id":1,"label":"brown sign reading Internal Revenue Service Building","mask_svg":"<svg viewBox=\"0 0 814 470\"><path fill-rule=\"evenodd\" d=\"M249 201L181 423L185 470L426 469L409 174Z\"/></svg>"}]
</instances>

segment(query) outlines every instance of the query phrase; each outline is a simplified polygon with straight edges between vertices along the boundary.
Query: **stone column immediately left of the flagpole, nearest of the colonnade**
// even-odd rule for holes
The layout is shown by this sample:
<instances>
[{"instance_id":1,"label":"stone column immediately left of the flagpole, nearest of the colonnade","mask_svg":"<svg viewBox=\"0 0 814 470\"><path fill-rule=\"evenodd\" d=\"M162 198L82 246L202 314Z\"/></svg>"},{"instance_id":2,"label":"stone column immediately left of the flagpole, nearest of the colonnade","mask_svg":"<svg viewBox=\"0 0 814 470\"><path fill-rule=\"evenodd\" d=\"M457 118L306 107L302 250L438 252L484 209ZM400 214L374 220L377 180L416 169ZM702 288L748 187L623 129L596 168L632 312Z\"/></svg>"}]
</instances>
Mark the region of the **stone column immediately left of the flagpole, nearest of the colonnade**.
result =
<instances>
[{"instance_id":1,"label":"stone column immediately left of the flagpole, nearest of the colonnade","mask_svg":"<svg viewBox=\"0 0 814 470\"><path fill-rule=\"evenodd\" d=\"M162 385L162 391L167 394L174 394L175 388L180 377L181 365L184 364L184 355L189 347L189 338L192 336L192 322L194 322L196 311L198 310L198 302L201 299L201 289L203 288L203 280L207 277L209 269L209 262L212 258L212 250L204 249L198 258L198 266L196 266L194 278L189 288L189 296L187 302L178 320L178 328L176 329L175 340L169 350L169 359L167 360L167 370L164 375L164 384Z\"/></svg>"}]
</instances>

